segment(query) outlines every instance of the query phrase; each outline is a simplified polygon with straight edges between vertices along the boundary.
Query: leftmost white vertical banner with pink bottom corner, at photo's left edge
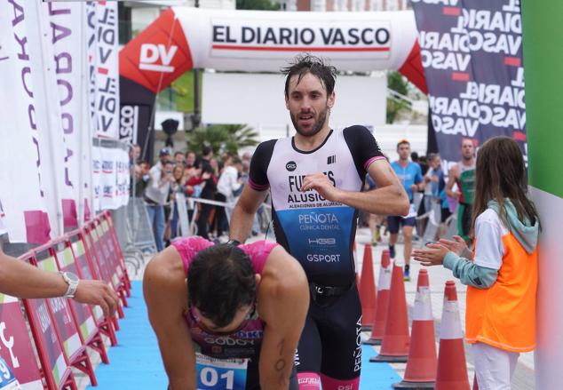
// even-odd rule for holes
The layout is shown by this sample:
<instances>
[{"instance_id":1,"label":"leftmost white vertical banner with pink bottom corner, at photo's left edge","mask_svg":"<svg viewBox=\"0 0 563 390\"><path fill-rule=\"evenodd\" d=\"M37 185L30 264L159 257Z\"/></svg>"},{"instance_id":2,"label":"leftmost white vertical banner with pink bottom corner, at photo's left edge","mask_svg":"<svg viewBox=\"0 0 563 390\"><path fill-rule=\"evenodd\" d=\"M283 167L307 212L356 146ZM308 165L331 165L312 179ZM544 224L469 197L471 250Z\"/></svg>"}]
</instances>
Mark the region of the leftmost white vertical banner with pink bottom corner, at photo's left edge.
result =
<instances>
[{"instance_id":1,"label":"leftmost white vertical banner with pink bottom corner, at photo's left edge","mask_svg":"<svg viewBox=\"0 0 563 390\"><path fill-rule=\"evenodd\" d=\"M39 114L44 85L36 83L43 68L32 59L41 55L35 7L35 3L0 1L0 202L12 243L45 243L52 229L48 218L52 208L47 206L51 186L40 147L45 131Z\"/></svg>"}]
</instances>

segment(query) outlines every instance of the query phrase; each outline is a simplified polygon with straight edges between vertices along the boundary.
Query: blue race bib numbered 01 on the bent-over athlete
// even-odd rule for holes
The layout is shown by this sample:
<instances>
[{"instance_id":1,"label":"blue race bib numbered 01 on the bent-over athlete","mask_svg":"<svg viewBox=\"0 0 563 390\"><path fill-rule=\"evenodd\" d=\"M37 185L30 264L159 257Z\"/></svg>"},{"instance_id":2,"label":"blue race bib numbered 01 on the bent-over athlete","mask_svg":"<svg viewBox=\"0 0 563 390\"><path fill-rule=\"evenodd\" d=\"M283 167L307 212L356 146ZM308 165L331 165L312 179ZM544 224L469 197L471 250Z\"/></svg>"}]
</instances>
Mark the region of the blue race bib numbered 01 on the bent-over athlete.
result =
<instances>
[{"instance_id":1,"label":"blue race bib numbered 01 on the bent-over athlete","mask_svg":"<svg viewBox=\"0 0 563 390\"><path fill-rule=\"evenodd\" d=\"M195 353L197 390L244 390L248 359L214 359Z\"/></svg>"}]
</instances>

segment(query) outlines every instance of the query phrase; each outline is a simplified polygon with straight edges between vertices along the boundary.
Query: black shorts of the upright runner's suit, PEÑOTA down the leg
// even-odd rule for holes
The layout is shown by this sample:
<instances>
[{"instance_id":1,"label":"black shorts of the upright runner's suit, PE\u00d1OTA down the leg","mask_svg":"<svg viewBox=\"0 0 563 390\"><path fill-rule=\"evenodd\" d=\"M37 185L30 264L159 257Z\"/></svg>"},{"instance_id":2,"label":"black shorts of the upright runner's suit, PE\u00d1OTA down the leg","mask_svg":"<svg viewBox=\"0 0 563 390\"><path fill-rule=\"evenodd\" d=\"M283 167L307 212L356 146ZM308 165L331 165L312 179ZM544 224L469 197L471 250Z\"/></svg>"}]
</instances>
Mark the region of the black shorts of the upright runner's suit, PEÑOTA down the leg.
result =
<instances>
[{"instance_id":1,"label":"black shorts of the upright runner's suit, PE\u00d1OTA down the leg","mask_svg":"<svg viewBox=\"0 0 563 390\"><path fill-rule=\"evenodd\" d=\"M322 373L330 378L358 378L361 370L361 303L352 284L342 295L313 297L301 333L297 372Z\"/></svg>"}]
</instances>

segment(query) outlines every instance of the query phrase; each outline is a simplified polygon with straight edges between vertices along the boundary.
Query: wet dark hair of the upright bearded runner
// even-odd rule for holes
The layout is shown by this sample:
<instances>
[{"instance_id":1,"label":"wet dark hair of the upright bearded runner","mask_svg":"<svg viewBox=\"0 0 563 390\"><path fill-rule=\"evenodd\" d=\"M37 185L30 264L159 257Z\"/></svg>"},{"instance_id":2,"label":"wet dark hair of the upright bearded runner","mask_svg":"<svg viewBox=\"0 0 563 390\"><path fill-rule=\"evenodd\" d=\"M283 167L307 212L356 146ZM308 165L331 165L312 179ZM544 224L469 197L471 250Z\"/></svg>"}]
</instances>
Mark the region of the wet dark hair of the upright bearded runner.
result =
<instances>
[{"instance_id":1,"label":"wet dark hair of the upright bearded runner","mask_svg":"<svg viewBox=\"0 0 563 390\"><path fill-rule=\"evenodd\" d=\"M327 98L334 91L334 84L337 81L337 68L324 63L324 60L311 54L298 55L289 67L281 68L281 73L286 75L285 78L285 96L289 96L289 80L297 75L297 84L301 82L303 76L310 73L319 77L321 84L327 91Z\"/></svg>"}]
</instances>

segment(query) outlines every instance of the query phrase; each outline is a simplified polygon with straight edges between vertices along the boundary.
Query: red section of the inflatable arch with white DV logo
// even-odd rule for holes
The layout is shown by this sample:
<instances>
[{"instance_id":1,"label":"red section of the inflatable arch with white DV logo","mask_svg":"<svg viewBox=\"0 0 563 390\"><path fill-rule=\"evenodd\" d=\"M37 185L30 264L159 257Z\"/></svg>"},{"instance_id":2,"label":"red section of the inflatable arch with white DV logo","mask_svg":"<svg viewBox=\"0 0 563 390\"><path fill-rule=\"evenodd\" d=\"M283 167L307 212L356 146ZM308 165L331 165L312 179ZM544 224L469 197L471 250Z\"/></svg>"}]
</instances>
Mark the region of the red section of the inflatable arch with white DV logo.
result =
<instances>
[{"instance_id":1,"label":"red section of the inflatable arch with white DV logo","mask_svg":"<svg viewBox=\"0 0 563 390\"><path fill-rule=\"evenodd\" d=\"M119 53L120 75L155 93L192 68L186 36L170 9Z\"/></svg>"}]
</instances>

